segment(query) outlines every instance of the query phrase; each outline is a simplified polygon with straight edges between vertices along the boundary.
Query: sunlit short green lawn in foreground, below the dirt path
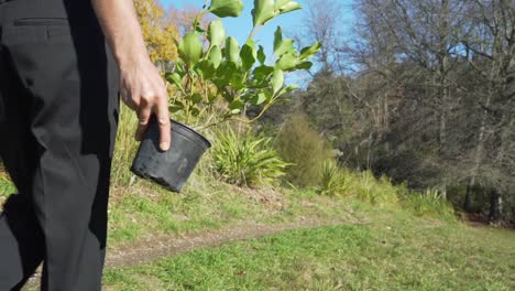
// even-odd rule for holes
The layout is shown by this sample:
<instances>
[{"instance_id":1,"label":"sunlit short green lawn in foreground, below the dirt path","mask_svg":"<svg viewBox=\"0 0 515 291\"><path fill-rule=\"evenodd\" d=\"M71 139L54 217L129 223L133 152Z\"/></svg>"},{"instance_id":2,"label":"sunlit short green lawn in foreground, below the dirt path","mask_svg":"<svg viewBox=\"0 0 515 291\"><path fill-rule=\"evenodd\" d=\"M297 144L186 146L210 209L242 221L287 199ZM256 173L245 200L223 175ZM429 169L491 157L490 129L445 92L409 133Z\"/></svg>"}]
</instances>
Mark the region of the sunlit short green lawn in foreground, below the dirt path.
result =
<instances>
[{"instance_id":1,"label":"sunlit short green lawn in foreground, below the dirt path","mask_svg":"<svg viewBox=\"0 0 515 291\"><path fill-rule=\"evenodd\" d=\"M515 288L514 233L403 211L364 212L366 225L287 230L111 269L105 276L106 290Z\"/></svg>"}]
</instances>

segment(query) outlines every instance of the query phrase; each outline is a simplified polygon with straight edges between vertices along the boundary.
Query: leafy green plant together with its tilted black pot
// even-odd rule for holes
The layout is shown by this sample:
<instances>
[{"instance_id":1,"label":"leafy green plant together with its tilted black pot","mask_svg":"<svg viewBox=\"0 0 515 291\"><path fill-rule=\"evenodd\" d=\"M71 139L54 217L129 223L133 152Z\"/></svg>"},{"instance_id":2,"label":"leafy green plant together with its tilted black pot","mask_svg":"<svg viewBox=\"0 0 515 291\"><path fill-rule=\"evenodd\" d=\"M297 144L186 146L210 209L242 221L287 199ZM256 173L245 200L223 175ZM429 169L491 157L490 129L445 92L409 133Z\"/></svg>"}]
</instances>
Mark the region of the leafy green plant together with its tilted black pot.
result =
<instances>
[{"instance_id":1,"label":"leafy green plant together with its tilted black pot","mask_svg":"<svg viewBox=\"0 0 515 291\"><path fill-rule=\"evenodd\" d=\"M252 122L272 105L287 101L285 94L297 88L286 86L285 74L311 67L309 58L320 48L315 43L298 51L294 41L283 39L278 26L274 33L273 58L267 60L255 33L270 20L300 9L292 0L254 0L253 28L243 45L227 36L220 19L202 29L200 20L208 13L218 18L239 17L241 0L206 0L193 22L191 32L176 41L178 60L165 78L172 86L169 110L186 123L172 120L171 150L158 147L156 126L149 128L132 164L132 172L151 179L168 190L180 192L202 153L210 147L199 132L228 120ZM260 114L244 119L245 108L262 106ZM155 125L155 123L154 123Z\"/></svg>"}]
</instances>

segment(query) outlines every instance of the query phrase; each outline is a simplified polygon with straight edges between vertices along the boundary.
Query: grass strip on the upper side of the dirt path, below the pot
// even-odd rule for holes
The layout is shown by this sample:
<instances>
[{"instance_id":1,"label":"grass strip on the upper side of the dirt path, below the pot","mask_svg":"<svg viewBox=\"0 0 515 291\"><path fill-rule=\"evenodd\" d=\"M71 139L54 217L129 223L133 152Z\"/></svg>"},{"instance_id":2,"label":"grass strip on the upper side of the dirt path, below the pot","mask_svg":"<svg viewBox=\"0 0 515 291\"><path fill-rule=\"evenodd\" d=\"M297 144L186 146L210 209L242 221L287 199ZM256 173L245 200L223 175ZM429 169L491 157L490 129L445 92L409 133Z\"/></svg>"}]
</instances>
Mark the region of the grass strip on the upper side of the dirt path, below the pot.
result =
<instances>
[{"instance_id":1,"label":"grass strip on the upper side of the dirt path, below the pot","mask_svg":"<svg viewBox=\"0 0 515 291\"><path fill-rule=\"evenodd\" d=\"M265 224L295 222L303 216L346 218L350 205L313 190L240 188L209 177L193 176L176 194L140 182L132 190L113 190L109 208L109 247L147 235L217 229L243 220Z\"/></svg>"}]
</instances>

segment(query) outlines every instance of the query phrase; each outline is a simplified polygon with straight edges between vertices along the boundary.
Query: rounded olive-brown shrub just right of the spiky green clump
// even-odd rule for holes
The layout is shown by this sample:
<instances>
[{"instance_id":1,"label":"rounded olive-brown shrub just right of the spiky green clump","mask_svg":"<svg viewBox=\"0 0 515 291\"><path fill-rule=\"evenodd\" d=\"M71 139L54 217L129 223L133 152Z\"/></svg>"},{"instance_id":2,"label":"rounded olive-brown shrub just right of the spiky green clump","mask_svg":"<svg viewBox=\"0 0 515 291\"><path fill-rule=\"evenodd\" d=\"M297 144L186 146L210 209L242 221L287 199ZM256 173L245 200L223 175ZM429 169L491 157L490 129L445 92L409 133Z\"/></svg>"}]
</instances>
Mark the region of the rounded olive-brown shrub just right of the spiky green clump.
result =
<instances>
[{"instance_id":1,"label":"rounded olive-brown shrub just right of the spiky green clump","mask_svg":"<svg viewBox=\"0 0 515 291\"><path fill-rule=\"evenodd\" d=\"M282 125L276 147L281 158L292 163L286 170L286 179L300 187L318 185L324 161L333 155L302 112L292 114Z\"/></svg>"}]
</instances>

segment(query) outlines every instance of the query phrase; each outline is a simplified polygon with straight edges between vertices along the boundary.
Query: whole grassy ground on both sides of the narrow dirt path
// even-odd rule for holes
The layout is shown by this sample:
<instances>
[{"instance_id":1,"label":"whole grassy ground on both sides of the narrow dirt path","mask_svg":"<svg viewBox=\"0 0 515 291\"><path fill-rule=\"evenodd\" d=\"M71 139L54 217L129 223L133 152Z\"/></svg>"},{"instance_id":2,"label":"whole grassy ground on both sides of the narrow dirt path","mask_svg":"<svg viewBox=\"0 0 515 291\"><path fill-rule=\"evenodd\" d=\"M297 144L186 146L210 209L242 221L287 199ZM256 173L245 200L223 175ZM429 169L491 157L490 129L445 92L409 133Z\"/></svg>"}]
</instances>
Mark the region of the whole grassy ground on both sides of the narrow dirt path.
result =
<instances>
[{"instance_id":1,"label":"whole grassy ground on both sides of the narrow dirt path","mask_svg":"<svg viewBox=\"0 0 515 291\"><path fill-rule=\"evenodd\" d=\"M109 248L161 234L305 216L365 222L285 231L108 270L107 290L511 290L515 235L457 223L438 193L407 196L372 173L327 168L320 188L249 190L213 179L212 155L182 194L129 172L138 120L122 111L109 208ZM123 151L121 150L123 149ZM335 184L333 181L337 183ZM15 188L0 171L0 203ZM442 219L443 218L443 219ZM122 246L123 245L123 246Z\"/></svg>"}]
</instances>

